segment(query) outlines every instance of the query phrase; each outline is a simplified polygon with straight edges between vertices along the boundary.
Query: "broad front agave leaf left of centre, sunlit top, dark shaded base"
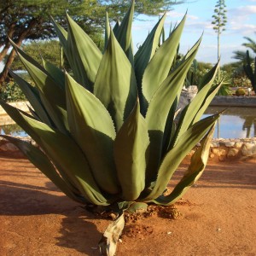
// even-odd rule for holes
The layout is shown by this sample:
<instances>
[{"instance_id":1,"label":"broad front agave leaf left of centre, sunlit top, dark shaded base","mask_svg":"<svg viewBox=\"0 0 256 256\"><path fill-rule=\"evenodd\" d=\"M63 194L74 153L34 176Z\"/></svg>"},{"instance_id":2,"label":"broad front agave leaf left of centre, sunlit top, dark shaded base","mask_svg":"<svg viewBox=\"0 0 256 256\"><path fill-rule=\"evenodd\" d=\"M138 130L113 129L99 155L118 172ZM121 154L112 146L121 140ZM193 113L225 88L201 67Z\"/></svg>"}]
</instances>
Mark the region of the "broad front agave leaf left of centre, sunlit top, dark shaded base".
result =
<instances>
[{"instance_id":1,"label":"broad front agave leaf left of centre, sunlit top, dark shaded base","mask_svg":"<svg viewBox=\"0 0 256 256\"><path fill-rule=\"evenodd\" d=\"M82 148L99 187L119 193L113 162L113 120L96 96L66 73L67 116L70 132Z\"/></svg>"}]
</instances>

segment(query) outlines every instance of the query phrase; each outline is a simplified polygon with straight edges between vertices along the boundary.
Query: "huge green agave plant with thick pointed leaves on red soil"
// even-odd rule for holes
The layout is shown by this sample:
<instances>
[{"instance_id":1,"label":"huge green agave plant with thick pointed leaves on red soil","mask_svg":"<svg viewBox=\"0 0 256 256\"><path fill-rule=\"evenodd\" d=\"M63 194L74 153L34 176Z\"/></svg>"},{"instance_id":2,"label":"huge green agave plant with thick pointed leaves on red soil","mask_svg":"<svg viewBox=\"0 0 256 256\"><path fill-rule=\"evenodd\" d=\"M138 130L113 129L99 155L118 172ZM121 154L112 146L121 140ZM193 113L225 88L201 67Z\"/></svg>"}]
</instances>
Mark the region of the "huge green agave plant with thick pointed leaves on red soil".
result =
<instances>
[{"instance_id":1,"label":"huge green agave plant with thick pointed leaves on red soil","mask_svg":"<svg viewBox=\"0 0 256 256\"><path fill-rule=\"evenodd\" d=\"M41 172L74 201L112 207L120 218L148 203L173 204L195 183L219 116L201 119L220 86L212 85L217 64L177 119L177 102L201 43L200 38L174 65L185 16L159 47L163 15L133 55L133 12L134 1L113 29L107 15L103 53L68 15L67 31L53 20L72 74L48 61L41 66L12 43L36 84L10 71L31 114L1 102L39 147L7 138ZM166 195L173 173L199 141L188 171Z\"/></svg>"}]
</instances>

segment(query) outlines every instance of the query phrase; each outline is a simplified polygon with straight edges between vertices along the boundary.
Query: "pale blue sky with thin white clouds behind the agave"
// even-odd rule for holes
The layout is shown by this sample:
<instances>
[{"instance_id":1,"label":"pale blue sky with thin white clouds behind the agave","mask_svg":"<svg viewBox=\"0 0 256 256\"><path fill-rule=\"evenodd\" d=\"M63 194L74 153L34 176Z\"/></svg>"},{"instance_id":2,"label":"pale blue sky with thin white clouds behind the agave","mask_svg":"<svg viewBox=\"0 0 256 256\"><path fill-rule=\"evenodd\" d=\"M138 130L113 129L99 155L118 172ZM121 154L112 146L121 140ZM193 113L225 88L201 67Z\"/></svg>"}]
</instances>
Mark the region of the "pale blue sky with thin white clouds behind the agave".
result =
<instances>
[{"instance_id":1,"label":"pale blue sky with thin white clouds behind the agave","mask_svg":"<svg viewBox=\"0 0 256 256\"><path fill-rule=\"evenodd\" d=\"M167 13L166 32L169 27L182 20L188 10L186 24L181 38L180 52L186 53L192 47L203 32L201 47L196 60L216 63L218 60L217 33L212 29L212 15L217 0L188 1L173 6L173 10ZM244 37L256 40L256 0L226 0L227 23L226 31L220 37L221 65L234 62L233 51L245 48L241 44L246 43ZM141 21L141 20L147 21ZM133 42L135 45L142 44L158 17L138 16L133 23Z\"/></svg>"}]
</instances>

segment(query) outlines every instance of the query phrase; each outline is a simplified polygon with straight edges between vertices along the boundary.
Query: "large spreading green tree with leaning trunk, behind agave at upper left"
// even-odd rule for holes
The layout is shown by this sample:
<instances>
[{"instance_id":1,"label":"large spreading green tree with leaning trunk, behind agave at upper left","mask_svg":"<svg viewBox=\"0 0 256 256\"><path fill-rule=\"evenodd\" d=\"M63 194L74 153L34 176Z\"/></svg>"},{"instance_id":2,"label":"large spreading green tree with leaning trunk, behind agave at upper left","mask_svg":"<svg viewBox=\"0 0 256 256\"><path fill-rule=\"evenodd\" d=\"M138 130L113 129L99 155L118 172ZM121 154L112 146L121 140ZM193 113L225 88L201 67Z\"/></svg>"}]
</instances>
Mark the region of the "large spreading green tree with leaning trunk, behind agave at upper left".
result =
<instances>
[{"instance_id":1,"label":"large spreading green tree with leaning trunk, behind agave at upper left","mask_svg":"<svg viewBox=\"0 0 256 256\"><path fill-rule=\"evenodd\" d=\"M54 27L49 15L61 25L65 25L65 12L83 27L88 34L101 32L105 24L106 9L109 16L122 16L131 1L89 1L89 0L5 0L0 2L0 61L11 49L9 38L20 46L29 39L55 38ZM137 13L159 14L163 9L170 9L172 4L183 1L137 1ZM8 69L15 58L13 49L0 75L0 84L6 79Z\"/></svg>"}]
</instances>

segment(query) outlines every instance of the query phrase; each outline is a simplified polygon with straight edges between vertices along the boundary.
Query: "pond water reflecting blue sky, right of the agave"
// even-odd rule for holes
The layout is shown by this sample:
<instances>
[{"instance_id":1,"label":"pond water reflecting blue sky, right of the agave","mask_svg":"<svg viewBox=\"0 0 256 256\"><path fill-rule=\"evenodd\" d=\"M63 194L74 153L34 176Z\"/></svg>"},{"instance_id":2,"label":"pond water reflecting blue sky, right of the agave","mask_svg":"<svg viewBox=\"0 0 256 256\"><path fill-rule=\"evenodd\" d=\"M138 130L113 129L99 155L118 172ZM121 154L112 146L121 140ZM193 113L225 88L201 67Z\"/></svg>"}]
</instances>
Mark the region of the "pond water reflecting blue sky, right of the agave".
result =
<instances>
[{"instance_id":1,"label":"pond water reflecting blue sky, right of the agave","mask_svg":"<svg viewBox=\"0 0 256 256\"><path fill-rule=\"evenodd\" d=\"M224 107L210 107L207 108L204 116L218 113L222 110L224 110ZM214 137L256 137L256 108L230 107L226 109L219 119Z\"/></svg>"}]
</instances>

